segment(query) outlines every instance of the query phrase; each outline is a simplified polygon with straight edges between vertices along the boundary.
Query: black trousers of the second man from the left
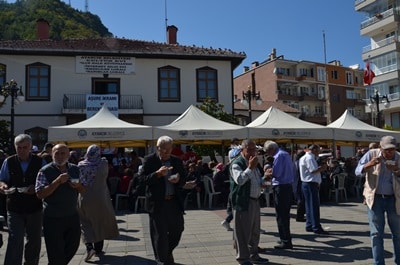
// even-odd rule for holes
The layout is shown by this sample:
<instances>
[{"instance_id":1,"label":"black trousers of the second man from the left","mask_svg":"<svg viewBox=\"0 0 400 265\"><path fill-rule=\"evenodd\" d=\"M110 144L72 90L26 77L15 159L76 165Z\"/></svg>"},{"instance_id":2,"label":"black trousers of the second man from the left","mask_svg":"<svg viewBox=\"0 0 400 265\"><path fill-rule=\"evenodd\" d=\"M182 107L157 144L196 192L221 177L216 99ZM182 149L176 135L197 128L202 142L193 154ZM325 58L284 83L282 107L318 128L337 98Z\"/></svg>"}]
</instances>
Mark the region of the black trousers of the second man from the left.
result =
<instances>
[{"instance_id":1,"label":"black trousers of the second man from the left","mask_svg":"<svg viewBox=\"0 0 400 265\"><path fill-rule=\"evenodd\" d=\"M43 217L43 235L49 265L66 265L79 248L81 225L78 214L67 217Z\"/></svg>"}]
</instances>

